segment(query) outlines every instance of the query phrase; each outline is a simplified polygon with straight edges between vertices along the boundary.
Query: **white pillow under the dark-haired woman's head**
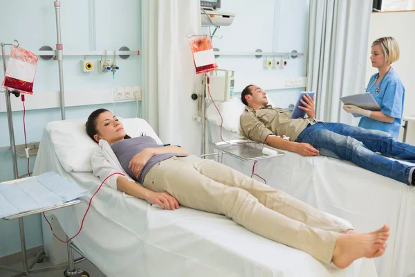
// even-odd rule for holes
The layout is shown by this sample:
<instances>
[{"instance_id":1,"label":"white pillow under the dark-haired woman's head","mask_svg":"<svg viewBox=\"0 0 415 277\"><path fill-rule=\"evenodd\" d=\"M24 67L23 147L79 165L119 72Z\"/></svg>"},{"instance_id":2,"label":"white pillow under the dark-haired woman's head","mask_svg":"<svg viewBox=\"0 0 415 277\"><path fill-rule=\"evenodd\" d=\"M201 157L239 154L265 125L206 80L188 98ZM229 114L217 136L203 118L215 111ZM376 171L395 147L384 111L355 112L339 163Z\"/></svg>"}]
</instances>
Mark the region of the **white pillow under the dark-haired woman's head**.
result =
<instances>
[{"instance_id":1,"label":"white pillow under the dark-haired woman's head","mask_svg":"<svg viewBox=\"0 0 415 277\"><path fill-rule=\"evenodd\" d=\"M162 144L149 123L142 118L119 118L125 132L131 137L151 136L157 143ZM90 172L91 153L94 148L98 148L86 134L85 119L53 121L46 125L46 130L50 134L57 158L66 171Z\"/></svg>"}]
</instances>

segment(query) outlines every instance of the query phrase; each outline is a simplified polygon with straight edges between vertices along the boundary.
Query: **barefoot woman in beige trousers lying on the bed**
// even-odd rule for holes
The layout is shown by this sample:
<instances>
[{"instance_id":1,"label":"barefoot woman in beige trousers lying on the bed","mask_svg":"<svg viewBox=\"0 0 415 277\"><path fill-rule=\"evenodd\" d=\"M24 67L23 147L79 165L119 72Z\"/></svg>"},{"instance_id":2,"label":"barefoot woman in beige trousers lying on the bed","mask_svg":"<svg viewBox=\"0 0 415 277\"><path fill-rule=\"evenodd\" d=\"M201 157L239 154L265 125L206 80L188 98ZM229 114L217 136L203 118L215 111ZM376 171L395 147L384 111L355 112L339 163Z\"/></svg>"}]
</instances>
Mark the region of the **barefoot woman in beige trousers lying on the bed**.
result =
<instances>
[{"instance_id":1,"label":"barefoot woman in beige trousers lying on the bed","mask_svg":"<svg viewBox=\"0 0 415 277\"><path fill-rule=\"evenodd\" d=\"M106 109L93 111L86 132L98 142L91 163L111 188L175 210L179 204L225 215L270 240L309 253L322 262L348 267L358 258L385 252L389 227L356 233L329 215L216 161L189 156L185 149L158 145L150 136L130 138Z\"/></svg>"}]
</instances>

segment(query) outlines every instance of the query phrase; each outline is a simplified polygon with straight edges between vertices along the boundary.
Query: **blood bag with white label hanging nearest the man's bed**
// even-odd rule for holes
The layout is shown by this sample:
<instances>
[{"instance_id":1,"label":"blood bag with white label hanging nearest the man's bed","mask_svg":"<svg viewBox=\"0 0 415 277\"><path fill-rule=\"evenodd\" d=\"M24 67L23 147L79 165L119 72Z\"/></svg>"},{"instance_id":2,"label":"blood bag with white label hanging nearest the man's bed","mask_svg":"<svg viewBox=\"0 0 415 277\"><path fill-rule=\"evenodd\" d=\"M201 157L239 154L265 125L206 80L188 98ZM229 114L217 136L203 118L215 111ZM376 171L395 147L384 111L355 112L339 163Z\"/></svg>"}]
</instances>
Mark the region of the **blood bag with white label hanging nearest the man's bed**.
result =
<instances>
[{"instance_id":1,"label":"blood bag with white label hanging nearest the man's bed","mask_svg":"<svg viewBox=\"0 0 415 277\"><path fill-rule=\"evenodd\" d=\"M190 42L190 47L193 52L194 66L196 67L196 74L207 73L217 69L216 60L212 42L209 37L199 37Z\"/></svg>"}]
</instances>

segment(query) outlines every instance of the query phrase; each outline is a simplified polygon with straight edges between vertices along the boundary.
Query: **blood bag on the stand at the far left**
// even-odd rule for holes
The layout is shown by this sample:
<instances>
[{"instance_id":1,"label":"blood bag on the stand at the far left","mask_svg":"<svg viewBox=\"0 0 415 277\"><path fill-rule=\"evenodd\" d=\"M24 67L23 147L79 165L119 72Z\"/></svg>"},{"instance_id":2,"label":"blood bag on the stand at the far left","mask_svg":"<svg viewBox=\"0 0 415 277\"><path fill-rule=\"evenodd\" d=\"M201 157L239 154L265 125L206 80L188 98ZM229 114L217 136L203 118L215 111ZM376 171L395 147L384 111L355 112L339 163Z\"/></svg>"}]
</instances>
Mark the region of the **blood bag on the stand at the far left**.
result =
<instances>
[{"instance_id":1,"label":"blood bag on the stand at the far left","mask_svg":"<svg viewBox=\"0 0 415 277\"><path fill-rule=\"evenodd\" d=\"M24 48L13 45L1 87L9 91L33 94L36 68L37 56Z\"/></svg>"}]
</instances>

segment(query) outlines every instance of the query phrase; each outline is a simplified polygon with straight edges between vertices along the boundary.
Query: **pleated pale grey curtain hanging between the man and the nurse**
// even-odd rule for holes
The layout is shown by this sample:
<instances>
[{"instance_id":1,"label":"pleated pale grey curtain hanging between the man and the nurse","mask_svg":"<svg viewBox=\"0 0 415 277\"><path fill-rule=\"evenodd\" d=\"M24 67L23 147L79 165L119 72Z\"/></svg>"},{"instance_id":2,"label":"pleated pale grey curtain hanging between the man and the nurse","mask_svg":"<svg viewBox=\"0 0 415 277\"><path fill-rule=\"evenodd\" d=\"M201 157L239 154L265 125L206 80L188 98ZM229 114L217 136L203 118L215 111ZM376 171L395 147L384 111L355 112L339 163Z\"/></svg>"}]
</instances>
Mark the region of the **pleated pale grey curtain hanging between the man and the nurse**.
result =
<instances>
[{"instance_id":1,"label":"pleated pale grey curtain hanging between the man and the nurse","mask_svg":"<svg viewBox=\"0 0 415 277\"><path fill-rule=\"evenodd\" d=\"M319 120L358 123L340 97L365 89L371 2L310 1L307 90L317 92Z\"/></svg>"}]
</instances>

